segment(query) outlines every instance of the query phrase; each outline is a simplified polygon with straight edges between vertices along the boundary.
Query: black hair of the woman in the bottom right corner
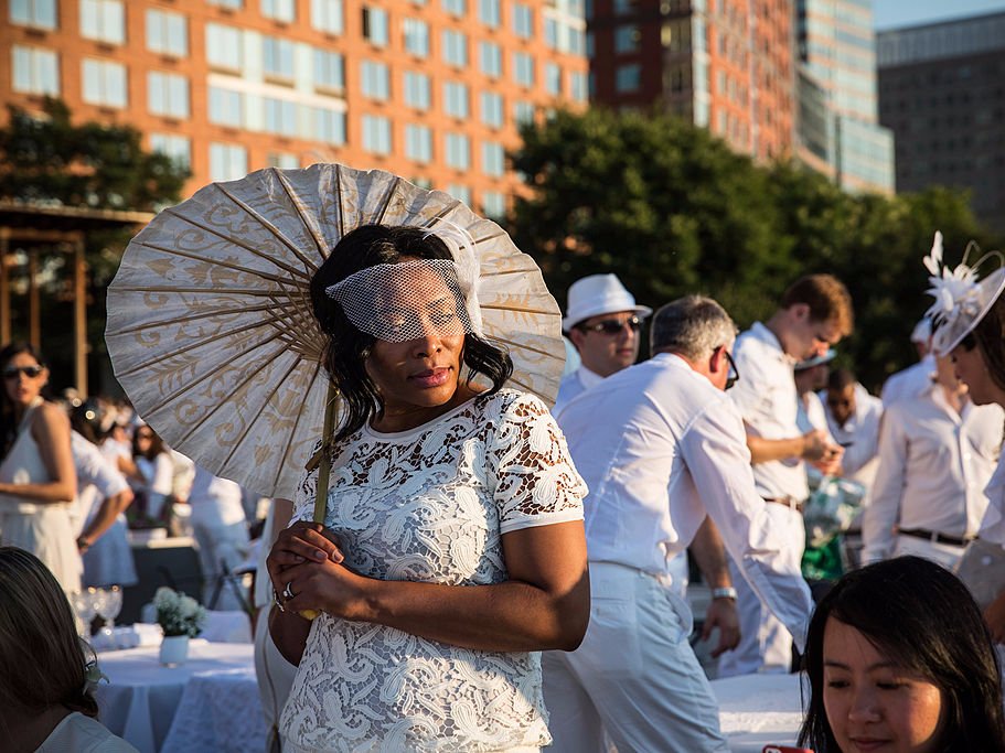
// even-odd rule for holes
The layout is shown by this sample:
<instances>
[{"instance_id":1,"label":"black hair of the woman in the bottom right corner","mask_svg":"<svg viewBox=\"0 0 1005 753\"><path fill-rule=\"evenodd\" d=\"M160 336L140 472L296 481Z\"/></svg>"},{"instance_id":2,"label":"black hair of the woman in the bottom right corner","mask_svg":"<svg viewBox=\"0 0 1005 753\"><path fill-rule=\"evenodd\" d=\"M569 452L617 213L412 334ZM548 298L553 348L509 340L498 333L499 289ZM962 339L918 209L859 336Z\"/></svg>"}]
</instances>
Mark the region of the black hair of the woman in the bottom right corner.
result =
<instances>
[{"instance_id":1,"label":"black hair of the woman in the bottom right corner","mask_svg":"<svg viewBox=\"0 0 1005 753\"><path fill-rule=\"evenodd\" d=\"M1005 718L994 642L966 587L920 557L897 557L844 575L820 601L806 635L810 703L799 744L840 753L824 708L824 631L835 620L942 693L941 753L1002 753Z\"/></svg>"}]
</instances>

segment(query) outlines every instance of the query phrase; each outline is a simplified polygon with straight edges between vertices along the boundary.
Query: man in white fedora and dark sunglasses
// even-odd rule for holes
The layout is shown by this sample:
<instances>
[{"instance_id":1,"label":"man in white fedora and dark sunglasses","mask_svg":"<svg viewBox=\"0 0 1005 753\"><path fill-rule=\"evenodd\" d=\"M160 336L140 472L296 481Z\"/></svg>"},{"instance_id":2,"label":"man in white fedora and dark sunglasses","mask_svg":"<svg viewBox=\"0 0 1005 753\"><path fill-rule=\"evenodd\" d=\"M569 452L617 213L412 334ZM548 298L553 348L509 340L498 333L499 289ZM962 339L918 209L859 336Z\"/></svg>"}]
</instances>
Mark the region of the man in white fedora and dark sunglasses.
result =
<instances>
[{"instance_id":1,"label":"man in white fedora and dark sunglasses","mask_svg":"<svg viewBox=\"0 0 1005 753\"><path fill-rule=\"evenodd\" d=\"M562 380L556 415L587 387L635 363L642 322L651 313L635 303L617 275L590 275L571 284L562 329L582 363Z\"/></svg>"}]
</instances>

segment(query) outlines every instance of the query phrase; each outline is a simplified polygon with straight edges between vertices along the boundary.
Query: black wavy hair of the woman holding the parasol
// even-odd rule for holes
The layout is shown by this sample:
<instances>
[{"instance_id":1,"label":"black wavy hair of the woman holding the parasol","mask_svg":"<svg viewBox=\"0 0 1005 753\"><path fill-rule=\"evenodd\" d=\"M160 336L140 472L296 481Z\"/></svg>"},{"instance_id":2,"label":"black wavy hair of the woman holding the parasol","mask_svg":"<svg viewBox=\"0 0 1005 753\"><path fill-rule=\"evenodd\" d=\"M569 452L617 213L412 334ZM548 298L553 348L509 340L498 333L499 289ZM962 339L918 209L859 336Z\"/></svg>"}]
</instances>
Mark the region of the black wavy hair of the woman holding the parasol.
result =
<instances>
[{"instance_id":1,"label":"black wavy hair of the woman holding the parasol","mask_svg":"<svg viewBox=\"0 0 1005 753\"><path fill-rule=\"evenodd\" d=\"M327 338L323 364L345 404L335 440L359 430L375 415L379 416L383 401L366 373L366 358L376 338L357 330L341 304L324 291L361 269L397 263L406 257L453 258L447 245L428 228L361 225L342 237L311 278L311 304ZM463 312L462 302L459 308ZM513 374L510 355L475 334L464 335L462 359L469 369L468 384L477 374L482 374L492 381L490 395L502 389Z\"/></svg>"}]
</instances>

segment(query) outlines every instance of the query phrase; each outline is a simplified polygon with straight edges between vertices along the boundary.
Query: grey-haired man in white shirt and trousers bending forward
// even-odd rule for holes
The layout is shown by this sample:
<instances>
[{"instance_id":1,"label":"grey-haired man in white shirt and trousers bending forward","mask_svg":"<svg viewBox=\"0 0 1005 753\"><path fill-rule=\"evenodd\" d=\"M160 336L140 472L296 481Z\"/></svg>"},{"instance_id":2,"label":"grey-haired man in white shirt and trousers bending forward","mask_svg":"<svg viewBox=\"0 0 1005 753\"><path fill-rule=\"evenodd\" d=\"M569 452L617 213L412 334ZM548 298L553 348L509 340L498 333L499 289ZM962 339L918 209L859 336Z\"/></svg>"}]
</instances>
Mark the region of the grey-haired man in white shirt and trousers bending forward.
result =
<instances>
[{"instance_id":1,"label":"grey-haired man in white shirt and trousers bending forward","mask_svg":"<svg viewBox=\"0 0 1005 753\"><path fill-rule=\"evenodd\" d=\"M653 318L650 361L558 413L589 487L591 606L580 647L542 658L556 753L600 753L605 736L619 751L729 750L670 569L706 518L740 578L802 643L810 591L799 566L787 564L784 531L755 487L744 421L725 392L746 379L733 364L735 338L712 299L676 300ZM709 585L714 599L735 593Z\"/></svg>"}]
</instances>

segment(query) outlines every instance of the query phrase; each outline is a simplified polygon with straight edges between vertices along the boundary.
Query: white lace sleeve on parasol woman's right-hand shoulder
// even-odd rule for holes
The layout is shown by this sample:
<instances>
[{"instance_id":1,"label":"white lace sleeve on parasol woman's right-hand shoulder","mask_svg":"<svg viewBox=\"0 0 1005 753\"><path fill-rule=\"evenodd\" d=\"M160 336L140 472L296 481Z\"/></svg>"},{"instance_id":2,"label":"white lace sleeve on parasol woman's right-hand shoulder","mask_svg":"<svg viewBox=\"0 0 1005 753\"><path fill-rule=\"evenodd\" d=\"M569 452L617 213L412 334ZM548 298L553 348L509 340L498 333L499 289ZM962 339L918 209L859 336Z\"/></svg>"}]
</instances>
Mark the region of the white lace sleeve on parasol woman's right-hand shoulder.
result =
<instances>
[{"instance_id":1,"label":"white lace sleeve on parasol woman's right-hand shoulder","mask_svg":"<svg viewBox=\"0 0 1005 753\"><path fill-rule=\"evenodd\" d=\"M586 484L539 399L517 395L507 400L487 450L500 533L582 519Z\"/></svg>"}]
</instances>

